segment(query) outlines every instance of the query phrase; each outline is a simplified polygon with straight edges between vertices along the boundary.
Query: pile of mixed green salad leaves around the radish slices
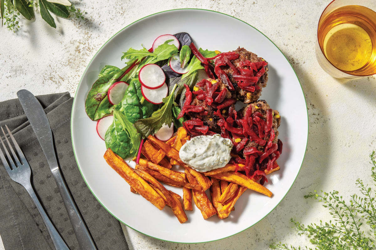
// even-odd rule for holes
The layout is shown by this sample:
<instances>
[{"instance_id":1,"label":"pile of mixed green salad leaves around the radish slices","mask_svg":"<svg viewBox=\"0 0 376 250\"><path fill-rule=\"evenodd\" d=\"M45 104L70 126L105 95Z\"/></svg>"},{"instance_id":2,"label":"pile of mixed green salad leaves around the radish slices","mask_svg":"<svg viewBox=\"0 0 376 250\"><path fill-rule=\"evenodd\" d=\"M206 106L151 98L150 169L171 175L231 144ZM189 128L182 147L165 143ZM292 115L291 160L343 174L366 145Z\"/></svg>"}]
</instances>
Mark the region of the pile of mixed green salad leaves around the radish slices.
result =
<instances>
[{"instance_id":1,"label":"pile of mixed green salad leaves around the radish slices","mask_svg":"<svg viewBox=\"0 0 376 250\"><path fill-rule=\"evenodd\" d=\"M170 39L174 38L173 36L168 36L168 40L166 39L156 48L148 50L142 45L141 49L129 48L123 52L121 60L126 60L126 66L122 69L111 65L103 67L99 72L99 79L94 82L86 97L85 110L92 120L99 120L106 115L113 114L112 124L106 132L103 131L103 134L105 132L106 147L111 148L123 159L136 156L141 139L154 135L164 124L171 127L171 123L174 123L177 129L186 121L185 117L177 119L181 109L175 101L179 102L180 106L183 105L186 91L184 85L193 88L198 80L198 70L204 67L191 51L189 45L193 40L188 33L175 34L175 40ZM180 51L177 48L177 41L180 44ZM216 55L214 51L207 49L200 48L199 51L205 57ZM187 73L177 73L179 70L176 72L171 69L170 58L172 56L179 60L180 65L178 65L182 69L188 67ZM146 87L149 93L151 88L143 86L144 83L138 78L140 70L147 64L160 66L166 76L165 84L161 82L161 87L167 84L167 94L163 100L163 96L159 97L161 98L159 105L150 103L144 98L142 88ZM111 102L108 100L109 88L120 81L126 82L129 86L123 90L125 91L124 97L120 103L112 105L112 99ZM123 96L122 92L115 93L121 93ZM163 93L163 91L156 91L156 93Z\"/></svg>"}]
</instances>

